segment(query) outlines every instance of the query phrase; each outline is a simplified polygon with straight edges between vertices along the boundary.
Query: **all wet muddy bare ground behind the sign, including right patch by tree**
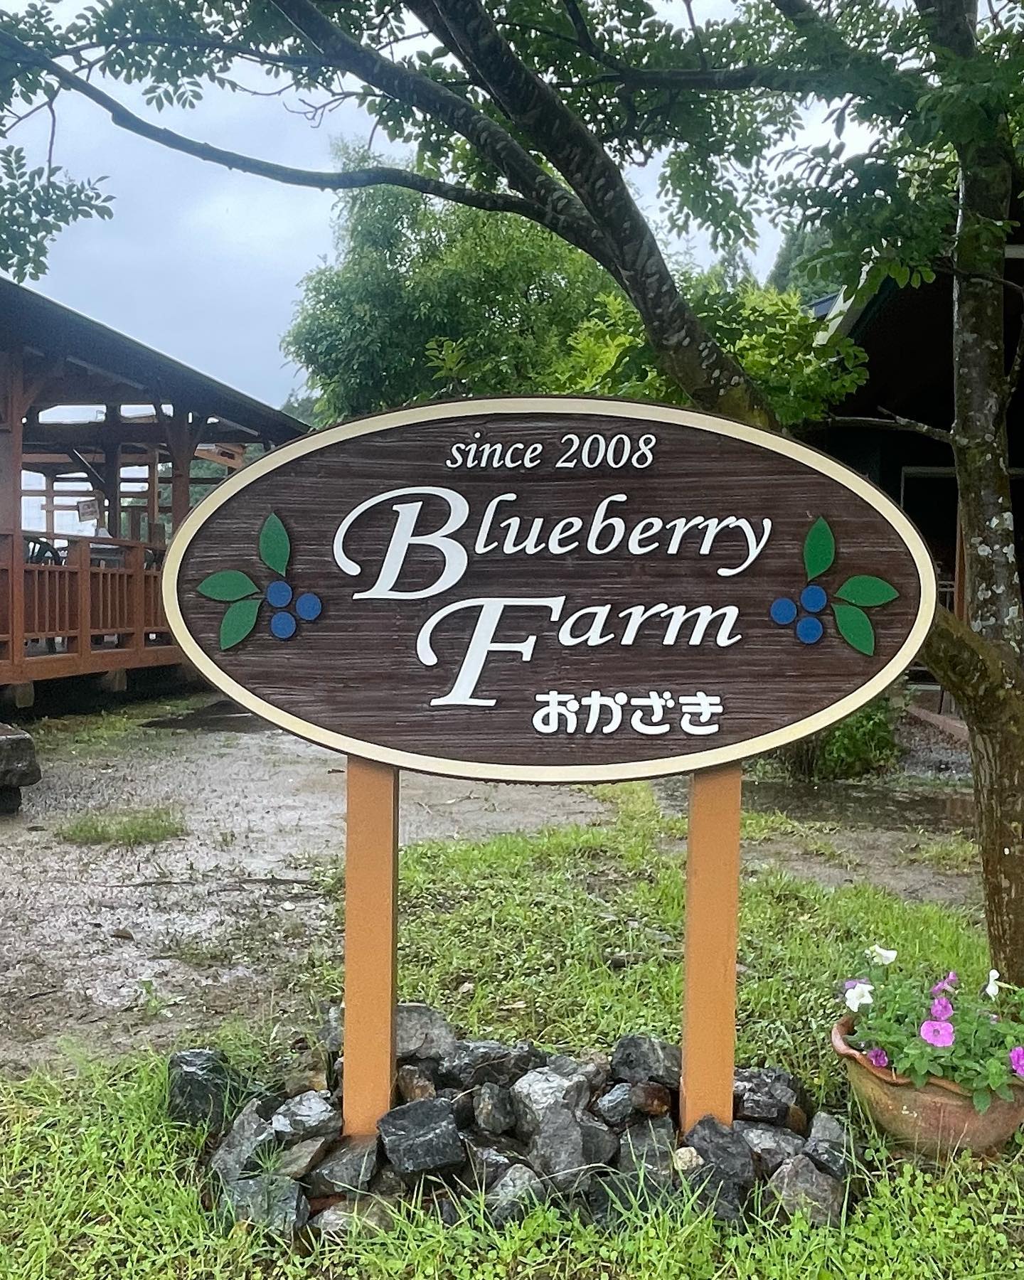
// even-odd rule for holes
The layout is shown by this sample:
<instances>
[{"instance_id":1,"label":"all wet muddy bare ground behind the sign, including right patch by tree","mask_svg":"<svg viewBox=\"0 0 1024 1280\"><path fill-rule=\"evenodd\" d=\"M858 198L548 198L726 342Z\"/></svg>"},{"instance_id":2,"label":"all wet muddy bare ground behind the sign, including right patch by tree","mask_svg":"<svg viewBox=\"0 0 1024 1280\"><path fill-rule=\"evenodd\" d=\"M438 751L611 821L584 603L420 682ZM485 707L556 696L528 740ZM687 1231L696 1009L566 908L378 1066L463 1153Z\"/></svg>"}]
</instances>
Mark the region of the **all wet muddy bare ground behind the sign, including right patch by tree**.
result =
<instances>
[{"instance_id":1,"label":"all wet muddy bare ground behind the sign, including right patch by tree","mask_svg":"<svg viewBox=\"0 0 1024 1280\"><path fill-rule=\"evenodd\" d=\"M344 849L344 758L207 695L182 708L36 724L44 781L19 817L0 819L0 1070L67 1044L115 1053L195 1041L230 1018L311 1016L303 968L342 946L320 883ZM916 771L948 776L945 750L913 745ZM685 808L685 780L657 790L667 812ZM751 781L744 805L765 815L764 831L749 832L749 865L978 901L973 874L915 858L970 826L969 800L948 783ZM180 815L186 833L136 850L61 835L82 814L155 806ZM402 774L403 842L604 812L572 787ZM790 829L780 831L780 812Z\"/></svg>"}]
</instances>

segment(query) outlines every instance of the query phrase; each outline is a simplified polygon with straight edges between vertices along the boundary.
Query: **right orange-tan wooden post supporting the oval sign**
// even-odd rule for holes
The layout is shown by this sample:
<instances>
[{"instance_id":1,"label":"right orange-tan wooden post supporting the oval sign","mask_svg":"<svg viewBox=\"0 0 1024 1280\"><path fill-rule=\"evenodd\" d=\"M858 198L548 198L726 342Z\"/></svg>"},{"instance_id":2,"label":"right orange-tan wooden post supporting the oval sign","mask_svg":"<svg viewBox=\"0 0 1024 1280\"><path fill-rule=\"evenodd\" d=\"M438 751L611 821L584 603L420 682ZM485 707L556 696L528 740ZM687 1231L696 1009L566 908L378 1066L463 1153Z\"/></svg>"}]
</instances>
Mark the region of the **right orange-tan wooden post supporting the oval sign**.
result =
<instances>
[{"instance_id":1,"label":"right orange-tan wooden post supporting the oval sign","mask_svg":"<svg viewBox=\"0 0 1024 1280\"><path fill-rule=\"evenodd\" d=\"M740 910L740 764L690 780L680 1115L732 1123L736 937Z\"/></svg>"}]
</instances>

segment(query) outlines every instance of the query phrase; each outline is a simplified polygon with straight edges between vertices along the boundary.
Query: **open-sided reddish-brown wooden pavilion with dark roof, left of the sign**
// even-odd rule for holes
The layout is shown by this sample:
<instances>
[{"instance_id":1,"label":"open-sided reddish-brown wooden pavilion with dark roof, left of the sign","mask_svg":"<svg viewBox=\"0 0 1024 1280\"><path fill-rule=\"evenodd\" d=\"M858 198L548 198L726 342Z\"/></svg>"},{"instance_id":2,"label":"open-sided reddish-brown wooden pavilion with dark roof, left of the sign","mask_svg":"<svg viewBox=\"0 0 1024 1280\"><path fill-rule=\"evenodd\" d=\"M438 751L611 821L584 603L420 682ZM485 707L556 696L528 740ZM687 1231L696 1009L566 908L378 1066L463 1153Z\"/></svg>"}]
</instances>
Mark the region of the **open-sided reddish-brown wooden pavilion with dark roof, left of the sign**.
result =
<instances>
[{"instance_id":1,"label":"open-sided reddish-brown wooden pavilion with dark roof, left of the sign","mask_svg":"<svg viewBox=\"0 0 1024 1280\"><path fill-rule=\"evenodd\" d=\"M168 535L196 485L305 430L0 280L0 694L28 705L38 680L180 663L160 603ZM41 527L24 527L26 498ZM96 532L61 532L61 511Z\"/></svg>"}]
</instances>

